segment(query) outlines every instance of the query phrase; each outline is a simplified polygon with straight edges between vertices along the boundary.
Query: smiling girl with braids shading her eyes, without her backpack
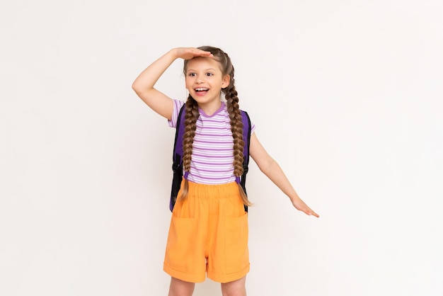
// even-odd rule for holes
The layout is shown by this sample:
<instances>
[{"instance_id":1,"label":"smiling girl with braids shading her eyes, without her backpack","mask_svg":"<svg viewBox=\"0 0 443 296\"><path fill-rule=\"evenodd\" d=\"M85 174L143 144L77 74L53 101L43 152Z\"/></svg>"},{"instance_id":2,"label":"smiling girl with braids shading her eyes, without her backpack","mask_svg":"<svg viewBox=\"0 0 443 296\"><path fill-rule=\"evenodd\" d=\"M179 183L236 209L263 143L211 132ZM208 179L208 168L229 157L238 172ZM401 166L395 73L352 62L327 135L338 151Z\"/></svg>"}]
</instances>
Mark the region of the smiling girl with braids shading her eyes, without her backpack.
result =
<instances>
[{"instance_id":1,"label":"smiling girl with braids shading her eyes, without her backpack","mask_svg":"<svg viewBox=\"0 0 443 296\"><path fill-rule=\"evenodd\" d=\"M132 89L175 127L183 102L168 98L154 89L154 84L178 58L185 60L189 96L185 103L184 177L163 264L163 270L171 275L169 296L192 295L195 283L205 280L206 274L222 283L223 295L246 295L248 220L243 205L251 203L236 182L243 173L243 125L231 59L215 47L174 48L147 67ZM318 217L299 198L254 130L253 125L249 152L260 171L297 210Z\"/></svg>"}]
</instances>

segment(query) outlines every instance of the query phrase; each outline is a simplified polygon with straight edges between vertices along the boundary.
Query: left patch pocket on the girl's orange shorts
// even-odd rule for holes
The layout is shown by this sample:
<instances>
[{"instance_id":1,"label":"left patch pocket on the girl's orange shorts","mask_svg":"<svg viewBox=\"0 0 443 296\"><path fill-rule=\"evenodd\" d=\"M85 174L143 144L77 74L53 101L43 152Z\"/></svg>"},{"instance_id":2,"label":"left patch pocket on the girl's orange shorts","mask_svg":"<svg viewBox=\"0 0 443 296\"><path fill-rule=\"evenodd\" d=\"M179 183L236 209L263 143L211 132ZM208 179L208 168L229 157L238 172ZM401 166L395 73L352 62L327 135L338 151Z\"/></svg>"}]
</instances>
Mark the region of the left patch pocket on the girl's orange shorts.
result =
<instances>
[{"instance_id":1,"label":"left patch pocket on the girl's orange shorts","mask_svg":"<svg viewBox=\"0 0 443 296\"><path fill-rule=\"evenodd\" d=\"M194 218L172 216L165 256L165 262L169 266L184 272L192 270L195 260L192 241L196 229Z\"/></svg>"}]
</instances>

